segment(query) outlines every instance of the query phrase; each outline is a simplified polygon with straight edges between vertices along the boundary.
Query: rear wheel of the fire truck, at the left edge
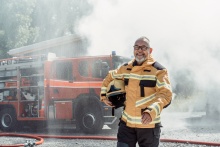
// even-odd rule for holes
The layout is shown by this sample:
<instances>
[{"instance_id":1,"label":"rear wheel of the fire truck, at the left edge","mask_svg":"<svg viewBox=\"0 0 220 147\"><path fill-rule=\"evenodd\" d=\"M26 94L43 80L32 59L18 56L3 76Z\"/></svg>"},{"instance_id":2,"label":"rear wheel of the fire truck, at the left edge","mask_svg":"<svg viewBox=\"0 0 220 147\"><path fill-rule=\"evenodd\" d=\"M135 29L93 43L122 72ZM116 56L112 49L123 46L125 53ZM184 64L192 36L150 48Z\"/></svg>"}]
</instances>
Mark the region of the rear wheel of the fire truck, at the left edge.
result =
<instances>
[{"instance_id":1,"label":"rear wheel of the fire truck, at the left edge","mask_svg":"<svg viewBox=\"0 0 220 147\"><path fill-rule=\"evenodd\" d=\"M16 114L13 109L3 109L0 112L0 128L4 132L14 131L17 125Z\"/></svg>"}]
</instances>

